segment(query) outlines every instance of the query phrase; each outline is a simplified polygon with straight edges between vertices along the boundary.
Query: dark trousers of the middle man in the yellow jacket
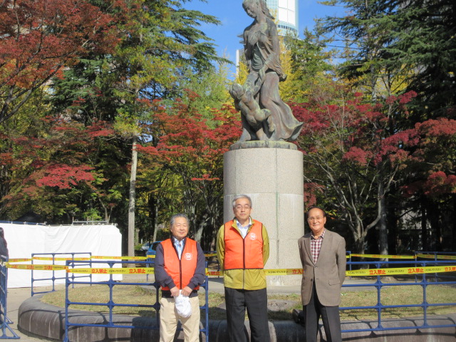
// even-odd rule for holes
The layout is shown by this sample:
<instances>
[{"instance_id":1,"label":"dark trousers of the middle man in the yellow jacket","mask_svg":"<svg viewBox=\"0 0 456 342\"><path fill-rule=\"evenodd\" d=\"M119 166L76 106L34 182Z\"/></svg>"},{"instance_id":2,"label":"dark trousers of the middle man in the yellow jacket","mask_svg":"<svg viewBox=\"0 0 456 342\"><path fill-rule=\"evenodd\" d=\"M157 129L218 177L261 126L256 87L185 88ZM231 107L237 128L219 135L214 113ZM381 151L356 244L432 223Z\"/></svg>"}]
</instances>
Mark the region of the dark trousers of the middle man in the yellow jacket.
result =
<instances>
[{"instance_id":1,"label":"dark trousers of the middle man in the yellow jacket","mask_svg":"<svg viewBox=\"0 0 456 342\"><path fill-rule=\"evenodd\" d=\"M245 309L249 317L252 342L269 342L268 297L266 289L241 290L225 287L228 341L249 341L244 329Z\"/></svg>"}]
</instances>

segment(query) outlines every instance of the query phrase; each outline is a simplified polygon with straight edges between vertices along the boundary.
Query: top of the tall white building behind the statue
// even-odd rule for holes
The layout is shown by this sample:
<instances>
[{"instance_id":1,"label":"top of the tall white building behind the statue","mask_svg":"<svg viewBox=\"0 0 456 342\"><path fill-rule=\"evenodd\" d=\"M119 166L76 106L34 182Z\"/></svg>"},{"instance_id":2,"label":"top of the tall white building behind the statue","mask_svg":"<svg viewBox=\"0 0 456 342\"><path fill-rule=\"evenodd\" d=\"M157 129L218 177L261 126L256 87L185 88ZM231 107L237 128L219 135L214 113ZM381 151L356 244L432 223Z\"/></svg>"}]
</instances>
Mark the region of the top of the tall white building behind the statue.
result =
<instances>
[{"instance_id":1,"label":"top of the tall white building behind the statue","mask_svg":"<svg viewBox=\"0 0 456 342\"><path fill-rule=\"evenodd\" d=\"M280 35L285 36L287 31L299 34L298 0L266 0L266 4L271 14L279 20L277 28Z\"/></svg>"}]
</instances>

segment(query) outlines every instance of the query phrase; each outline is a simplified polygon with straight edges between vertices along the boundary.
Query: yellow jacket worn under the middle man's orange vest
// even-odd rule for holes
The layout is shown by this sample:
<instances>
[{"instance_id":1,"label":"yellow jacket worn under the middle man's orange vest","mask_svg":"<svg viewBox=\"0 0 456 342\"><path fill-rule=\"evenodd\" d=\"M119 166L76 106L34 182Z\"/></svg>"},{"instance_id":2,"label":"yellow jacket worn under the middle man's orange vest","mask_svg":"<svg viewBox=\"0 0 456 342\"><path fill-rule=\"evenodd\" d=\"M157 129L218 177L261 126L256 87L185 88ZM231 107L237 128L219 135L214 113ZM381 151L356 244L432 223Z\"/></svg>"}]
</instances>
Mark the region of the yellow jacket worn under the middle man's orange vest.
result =
<instances>
[{"instance_id":1,"label":"yellow jacket worn under the middle man's orange vest","mask_svg":"<svg viewBox=\"0 0 456 342\"><path fill-rule=\"evenodd\" d=\"M233 220L232 227L239 232L239 239L242 239L241 232L236 224L236 219ZM249 234L250 229L247 231ZM269 258L269 237L266 232L266 227L261 224L261 233L263 236L263 264ZM246 256L247 258L249 256ZM217 259L219 259L220 270L223 272L223 282L225 287L231 289L244 289L244 290L259 290L266 287L266 276L264 269L229 269L224 271L224 259L229 258L225 255L225 242L224 242L224 224L220 227L217 233Z\"/></svg>"}]
</instances>

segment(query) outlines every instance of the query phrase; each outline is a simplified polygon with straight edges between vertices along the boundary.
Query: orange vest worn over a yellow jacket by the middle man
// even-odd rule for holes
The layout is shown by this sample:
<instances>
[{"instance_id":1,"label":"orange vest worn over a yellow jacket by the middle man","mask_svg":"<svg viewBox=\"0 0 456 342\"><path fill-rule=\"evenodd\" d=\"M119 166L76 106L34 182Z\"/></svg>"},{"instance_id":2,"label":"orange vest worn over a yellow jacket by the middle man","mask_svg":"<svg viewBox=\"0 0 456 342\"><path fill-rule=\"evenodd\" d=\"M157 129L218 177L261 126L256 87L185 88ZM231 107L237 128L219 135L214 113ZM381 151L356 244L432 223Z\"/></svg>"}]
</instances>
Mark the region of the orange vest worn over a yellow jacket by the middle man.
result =
<instances>
[{"instance_id":1,"label":"orange vest worn over a yellow jacket by the middle man","mask_svg":"<svg viewBox=\"0 0 456 342\"><path fill-rule=\"evenodd\" d=\"M224 269L262 269L263 224L252 219L252 227L242 239L238 230L232 227L234 220L225 223Z\"/></svg>"}]
</instances>

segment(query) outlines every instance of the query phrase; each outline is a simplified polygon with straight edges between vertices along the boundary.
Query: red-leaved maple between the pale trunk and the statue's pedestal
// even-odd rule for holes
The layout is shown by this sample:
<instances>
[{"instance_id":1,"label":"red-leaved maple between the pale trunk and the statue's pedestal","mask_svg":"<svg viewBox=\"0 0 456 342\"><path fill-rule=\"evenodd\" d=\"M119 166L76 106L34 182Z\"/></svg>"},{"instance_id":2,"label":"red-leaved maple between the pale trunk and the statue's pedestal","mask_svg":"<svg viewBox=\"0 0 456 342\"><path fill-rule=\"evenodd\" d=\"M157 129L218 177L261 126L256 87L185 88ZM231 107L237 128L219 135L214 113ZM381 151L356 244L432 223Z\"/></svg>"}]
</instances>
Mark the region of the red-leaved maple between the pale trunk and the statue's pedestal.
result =
<instances>
[{"instance_id":1,"label":"red-leaved maple between the pale trunk and the statue's pedestal","mask_svg":"<svg viewBox=\"0 0 456 342\"><path fill-rule=\"evenodd\" d=\"M223 153L239 139L241 125L231 106L212 109L209 120L192 105L198 96L190 90L187 96L190 103L177 100L171 108L155 102L152 130L160 136L157 145L139 150L160 165L174 187L177 208L190 217L192 235L210 247L223 219Z\"/></svg>"}]
</instances>

